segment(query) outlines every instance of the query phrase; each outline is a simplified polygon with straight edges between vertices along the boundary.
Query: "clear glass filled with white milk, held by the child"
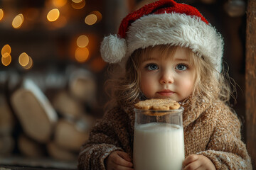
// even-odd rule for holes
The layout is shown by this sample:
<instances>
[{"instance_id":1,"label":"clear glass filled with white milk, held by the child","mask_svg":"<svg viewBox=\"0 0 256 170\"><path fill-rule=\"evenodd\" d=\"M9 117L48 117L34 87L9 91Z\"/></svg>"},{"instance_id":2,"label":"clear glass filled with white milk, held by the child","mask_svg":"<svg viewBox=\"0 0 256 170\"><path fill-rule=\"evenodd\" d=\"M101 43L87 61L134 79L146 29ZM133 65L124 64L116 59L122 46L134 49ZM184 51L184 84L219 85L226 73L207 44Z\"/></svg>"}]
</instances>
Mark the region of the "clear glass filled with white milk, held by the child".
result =
<instances>
[{"instance_id":1,"label":"clear glass filled with white milk, held by the child","mask_svg":"<svg viewBox=\"0 0 256 170\"><path fill-rule=\"evenodd\" d=\"M183 108L134 111L134 169L181 170L185 158Z\"/></svg>"}]
</instances>

